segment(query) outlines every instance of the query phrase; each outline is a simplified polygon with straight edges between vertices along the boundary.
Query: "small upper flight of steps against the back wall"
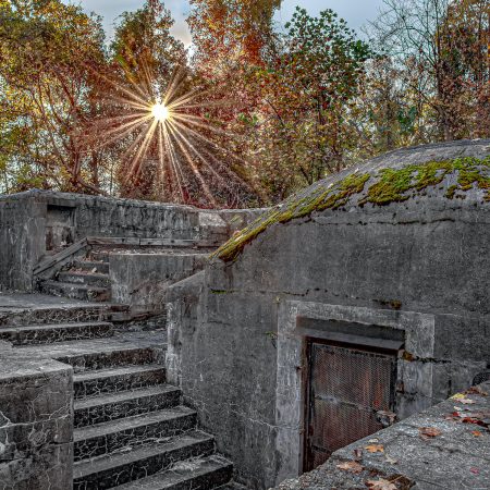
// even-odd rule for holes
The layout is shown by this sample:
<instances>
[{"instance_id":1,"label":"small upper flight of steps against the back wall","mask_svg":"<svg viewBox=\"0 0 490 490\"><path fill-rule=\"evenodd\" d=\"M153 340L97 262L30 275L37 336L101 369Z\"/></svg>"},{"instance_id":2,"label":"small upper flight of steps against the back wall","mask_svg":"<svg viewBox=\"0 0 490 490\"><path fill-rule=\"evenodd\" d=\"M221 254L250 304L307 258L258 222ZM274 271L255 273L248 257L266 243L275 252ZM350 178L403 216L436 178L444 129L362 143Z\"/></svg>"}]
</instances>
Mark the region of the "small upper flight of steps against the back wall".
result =
<instances>
[{"instance_id":1,"label":"small upper flight of steps against the back wall","mask_svg":"<svg viewBox=\"0 0 490 490\"><path fill-rule=\"evenodd\" d=\"M111 287L109 278L109 254L90 250L86 257L77 258L56 279L42 281L40 291L54 296L89 302L109 302Z\"/></svg>"}]
</instances>

